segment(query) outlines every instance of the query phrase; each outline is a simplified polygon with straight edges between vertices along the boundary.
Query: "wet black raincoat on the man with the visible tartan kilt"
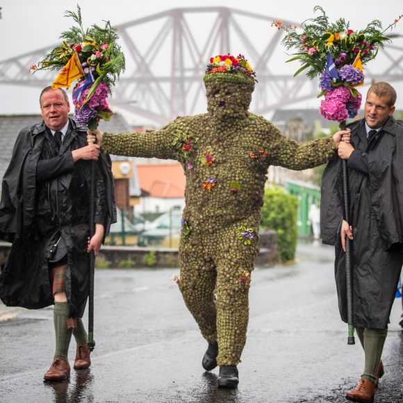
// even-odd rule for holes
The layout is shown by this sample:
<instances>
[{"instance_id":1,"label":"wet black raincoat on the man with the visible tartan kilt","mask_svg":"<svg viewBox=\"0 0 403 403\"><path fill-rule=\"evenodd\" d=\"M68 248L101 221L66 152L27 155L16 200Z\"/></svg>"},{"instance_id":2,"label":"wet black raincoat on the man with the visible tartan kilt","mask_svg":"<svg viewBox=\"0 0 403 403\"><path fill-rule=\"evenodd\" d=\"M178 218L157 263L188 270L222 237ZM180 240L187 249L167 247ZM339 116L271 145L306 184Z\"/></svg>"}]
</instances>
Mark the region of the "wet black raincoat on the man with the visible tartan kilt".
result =
<instances>
[{"instance_id":1,"label":"wet black raincoat on the man with the visible tartan kilt","mask_svg":"<svg viewBox=\"0 0 403 403\"><path fill-rule=\"evenodd\" d=\"M90 164L73 163L87 145L86 131L69 120L60 151L44 122L23 129L3 178L0 238L13 242L0 274L7 306L39 309L54 304L48 259L55 240L67 249L65 288L72 318L82 317L89 293ZM110 158L101 154L95 174L94 222L108 234L115 222Z\"/></svg>"}]
</instances>

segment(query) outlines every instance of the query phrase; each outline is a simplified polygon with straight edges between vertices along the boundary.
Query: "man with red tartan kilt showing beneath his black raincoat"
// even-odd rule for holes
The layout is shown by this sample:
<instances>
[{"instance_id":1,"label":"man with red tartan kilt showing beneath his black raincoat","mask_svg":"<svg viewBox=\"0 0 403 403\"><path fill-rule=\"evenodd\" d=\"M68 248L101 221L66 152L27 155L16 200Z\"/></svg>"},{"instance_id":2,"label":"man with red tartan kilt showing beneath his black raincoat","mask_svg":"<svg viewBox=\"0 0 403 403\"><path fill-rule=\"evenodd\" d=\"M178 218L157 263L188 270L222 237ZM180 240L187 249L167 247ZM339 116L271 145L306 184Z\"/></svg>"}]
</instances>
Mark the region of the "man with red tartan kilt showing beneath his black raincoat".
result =
<instances>
[{"instance_id":1,"label":"man with red tartan kilt showing beneath his black raincoat","mask_svg":"<svg viewBox=\"0 0 403 403\"><path fill-rule=\"evenodd\" d=\"M69 341L77 343L74 368L90 366L81 318L89 292L89 253L97 255L115 220L110 158L88 145L86 129L70 120L67 94L40 94L43 122L22 129L2 183L0 238L13 242L0 274L7 306L40 309L55 304L56 352L44 378L69 377ZM90 164L97 161L95 233L90 235Z\"/></svg>"}]
</instances>

